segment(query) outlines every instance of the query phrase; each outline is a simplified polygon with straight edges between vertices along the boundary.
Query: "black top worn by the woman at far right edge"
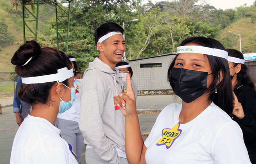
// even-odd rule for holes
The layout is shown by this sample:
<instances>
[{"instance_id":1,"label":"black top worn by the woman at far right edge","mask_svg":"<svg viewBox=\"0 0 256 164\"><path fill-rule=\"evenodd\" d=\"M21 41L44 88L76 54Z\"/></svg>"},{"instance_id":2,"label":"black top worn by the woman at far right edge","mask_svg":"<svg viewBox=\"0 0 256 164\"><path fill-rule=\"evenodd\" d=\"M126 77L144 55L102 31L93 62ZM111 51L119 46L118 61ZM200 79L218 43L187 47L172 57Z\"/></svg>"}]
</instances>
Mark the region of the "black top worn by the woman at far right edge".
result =
<instances>
[{"instance_id":1,"label":"black top worn by the woman at far right edge","mask_svg":"<svg viewBox=\"0 0 256 164\"><path fill-rule=\"evenodd\" d=\"M240 86L234 91L241 103L245 117L242 119L233 115L233 120L241 127L245 146L252 164L256 164L256 93L248 86Z\"/></svg>"}]
</instances>

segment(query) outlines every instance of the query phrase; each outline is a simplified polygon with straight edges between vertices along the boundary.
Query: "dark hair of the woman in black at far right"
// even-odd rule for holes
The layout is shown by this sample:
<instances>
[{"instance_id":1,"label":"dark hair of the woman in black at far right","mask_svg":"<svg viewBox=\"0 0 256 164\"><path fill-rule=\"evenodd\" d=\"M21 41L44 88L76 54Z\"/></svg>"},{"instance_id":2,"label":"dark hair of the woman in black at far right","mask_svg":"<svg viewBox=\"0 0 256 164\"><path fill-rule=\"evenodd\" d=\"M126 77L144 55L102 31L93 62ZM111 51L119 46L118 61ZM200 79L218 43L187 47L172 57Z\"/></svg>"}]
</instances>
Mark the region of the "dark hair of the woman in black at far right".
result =
<instances>
[{"instance_id":1,"label":"dark hair of the woman in black at far right","mask_svg":"<svg viewBox=\"0 0 256 164\"><path fill-rule=\"evenodd\" d=\"M229 53L229 56L244 59L244 55L240 51L237 51L235 49L226 49L226 51ZM233 65L236 67L238 63L233 63ZM237 73L237 84L234 87L234 90L236 90L237 87L241 85L249 86L252 88L253 91L256 91L254 81L249 75L248 68L245 64L241 64L241 71Z\"/></svg>"}]
</instances>

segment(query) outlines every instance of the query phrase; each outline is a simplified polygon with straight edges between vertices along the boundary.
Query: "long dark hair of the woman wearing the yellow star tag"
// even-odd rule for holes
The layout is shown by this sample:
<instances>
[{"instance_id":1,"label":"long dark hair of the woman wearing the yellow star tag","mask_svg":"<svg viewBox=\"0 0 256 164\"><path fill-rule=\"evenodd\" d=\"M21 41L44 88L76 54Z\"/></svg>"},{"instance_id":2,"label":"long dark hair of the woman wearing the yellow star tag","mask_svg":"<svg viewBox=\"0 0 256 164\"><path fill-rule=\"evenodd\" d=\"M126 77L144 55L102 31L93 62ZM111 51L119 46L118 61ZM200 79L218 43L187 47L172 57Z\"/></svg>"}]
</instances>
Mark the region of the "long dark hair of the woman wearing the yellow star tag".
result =
<instances>
[{"instance_id":1,"label":"long dark hair of the woman wearing the yellow star tag","mask_svg":"<svg viewBox=\"0 0 256 164\"><path fill-rule=\"evenodd\" d=\"M220 50L225 50L223 45L217 40L212 38L205 38L202 36L185 39L181 42L180 46L184 46L185 44L188 44L188 43L196 43L203 47L218 48ZM179 54L175 56L172 63L170 64L170 67L168 69L168 75L172 71L172 68L174 66L175 60L178 55ZM206 56L210 62L212 74L214 76L213 81L207 91L210 94L209 100L214 102L214 104L219 106L219 108L221 108L229 116L231 116L233 112L234 97L233 97L228 62L224 58L220 58L212 55L206 55ZM220 78L221 71L223 73L223 79L217 85L218 79ZM217 90L218 90L217 93L215 93L215 86L217 87Z\"/></svg>"}]
</instances>

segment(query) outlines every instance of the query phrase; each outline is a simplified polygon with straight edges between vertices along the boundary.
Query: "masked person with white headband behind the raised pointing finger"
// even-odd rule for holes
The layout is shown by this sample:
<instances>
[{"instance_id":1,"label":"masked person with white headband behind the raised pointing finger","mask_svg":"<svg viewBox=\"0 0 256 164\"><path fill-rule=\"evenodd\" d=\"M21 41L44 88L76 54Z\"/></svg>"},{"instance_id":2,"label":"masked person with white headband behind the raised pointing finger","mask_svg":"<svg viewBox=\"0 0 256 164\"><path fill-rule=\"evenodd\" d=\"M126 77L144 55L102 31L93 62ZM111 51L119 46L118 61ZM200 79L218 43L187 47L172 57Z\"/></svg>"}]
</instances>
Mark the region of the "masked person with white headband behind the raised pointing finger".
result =
<instances>
[{"instance_id":1,"label":"masked person with white headband behind the raised pointing finger","mask_svg":"<svg viewBox=\"0 0 256 164\"><path fill-rule=\"evenodd\" d=\"M125 88L127 88L126 75L129 74L130 78L132 79L132 75L133 75L132 67L127 62L118 62L118 63L116 63L116 68L119 70L119 74L121 74L121 76L123 77L122 82L123 82ZM132 82L133 92L135 93L135 97L137 99L137 95L138 95L137 86L136 86L135 82L133 82L133 81L131 81L131 82ZM123 90L123 92L126 92L126 90Z\"/></svg>"}]
</instances>

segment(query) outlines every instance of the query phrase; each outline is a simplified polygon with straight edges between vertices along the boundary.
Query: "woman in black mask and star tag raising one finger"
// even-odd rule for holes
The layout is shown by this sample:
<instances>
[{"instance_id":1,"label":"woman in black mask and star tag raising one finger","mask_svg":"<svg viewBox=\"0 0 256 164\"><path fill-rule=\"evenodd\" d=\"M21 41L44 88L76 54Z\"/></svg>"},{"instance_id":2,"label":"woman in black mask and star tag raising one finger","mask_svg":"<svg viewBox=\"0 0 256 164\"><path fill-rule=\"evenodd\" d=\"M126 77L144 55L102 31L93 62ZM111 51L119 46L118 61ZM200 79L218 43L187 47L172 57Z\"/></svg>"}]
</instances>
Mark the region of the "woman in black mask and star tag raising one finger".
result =
<instances>
[{"instance_id":1,"label":"woman in black mask and star tag raising one finger","mask_svg":"<svg viewBox=\"0 0 256 164\"><path fill-rule=\"evenodd\" d=\"M129 76L127 93L114 99L125 116L125 150L130 164L250 163L242 130L231 119L233 93L227 52L215 39L192 37L177 47L168 80L182 104L159 114L143 142Z\"/></svg>"}]
</instances>

